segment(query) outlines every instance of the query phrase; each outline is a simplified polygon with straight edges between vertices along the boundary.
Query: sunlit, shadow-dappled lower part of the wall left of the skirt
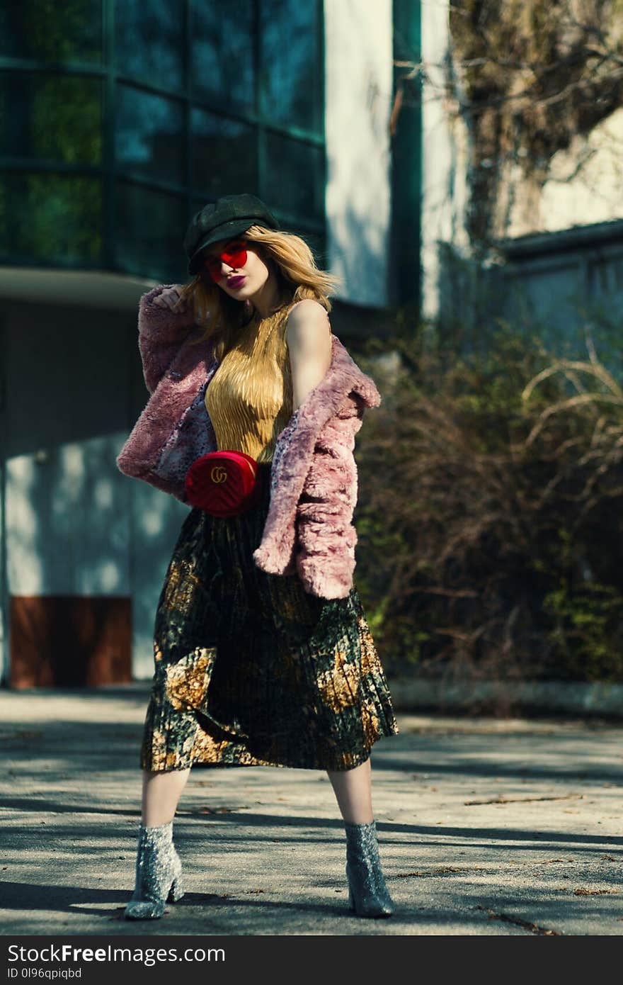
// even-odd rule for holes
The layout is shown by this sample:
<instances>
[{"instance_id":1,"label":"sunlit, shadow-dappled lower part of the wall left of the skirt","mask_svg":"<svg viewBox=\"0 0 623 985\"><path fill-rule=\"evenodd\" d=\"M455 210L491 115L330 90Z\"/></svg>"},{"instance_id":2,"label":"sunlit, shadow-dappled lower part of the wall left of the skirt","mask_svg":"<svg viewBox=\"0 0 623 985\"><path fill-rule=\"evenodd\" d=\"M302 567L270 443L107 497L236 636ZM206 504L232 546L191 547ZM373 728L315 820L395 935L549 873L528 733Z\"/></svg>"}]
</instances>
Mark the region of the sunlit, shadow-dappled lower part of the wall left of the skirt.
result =
<instances>
[{"instance_id":1,"label":"sunlit, shadow-dappled lower part of the wall left of the skirt","mask_svg":"<svg viewBox=\"0 0 623 985\"><path fill-rule=\"evenodd\" d=\"M10 596L129 596L132 674L149 679L156 604L188 508L118 472L126 436L9 459L7 587Z\"/></svg>"}]
</instances>

